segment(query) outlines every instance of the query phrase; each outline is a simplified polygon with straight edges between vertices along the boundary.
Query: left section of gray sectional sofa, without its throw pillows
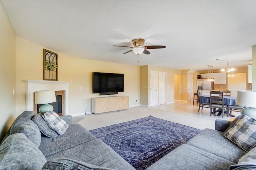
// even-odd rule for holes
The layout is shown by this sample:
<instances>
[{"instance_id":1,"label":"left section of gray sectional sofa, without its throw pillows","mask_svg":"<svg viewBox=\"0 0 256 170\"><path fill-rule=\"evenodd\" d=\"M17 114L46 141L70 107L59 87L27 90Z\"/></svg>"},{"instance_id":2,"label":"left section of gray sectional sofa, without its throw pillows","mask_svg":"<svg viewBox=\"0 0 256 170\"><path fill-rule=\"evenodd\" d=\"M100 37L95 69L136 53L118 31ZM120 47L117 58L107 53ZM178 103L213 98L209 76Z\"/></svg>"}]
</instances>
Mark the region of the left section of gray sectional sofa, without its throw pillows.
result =
<instances>
[{"instance_id":1,"label":"left section of gray sectional sofa, without its throw pillows","mask_svg":"<svg viewBox=\"0 0 256 170\"><path fill-rule=\"evenodd\" d=\"M55 138L41 135L33 116L26 111L13 122L0 145L1 170L134 170L80 124L72 124L72 116L60 116L69 127Z\"/></svg>"}]
</instances>

